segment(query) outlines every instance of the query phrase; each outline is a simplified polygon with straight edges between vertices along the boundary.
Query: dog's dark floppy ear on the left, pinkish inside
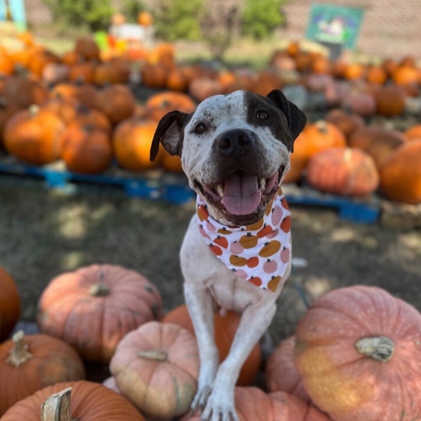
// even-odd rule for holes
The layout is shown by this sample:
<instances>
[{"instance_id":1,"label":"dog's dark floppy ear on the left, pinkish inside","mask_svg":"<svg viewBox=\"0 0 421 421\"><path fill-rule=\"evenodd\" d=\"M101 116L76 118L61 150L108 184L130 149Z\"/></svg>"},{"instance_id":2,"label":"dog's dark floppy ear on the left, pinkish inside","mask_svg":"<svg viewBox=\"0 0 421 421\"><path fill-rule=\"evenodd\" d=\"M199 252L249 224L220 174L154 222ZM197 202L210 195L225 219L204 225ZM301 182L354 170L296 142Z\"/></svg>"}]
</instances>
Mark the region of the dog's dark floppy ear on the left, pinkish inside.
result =
<instances>
[{"instance_id":1,"label":"dog's dark floppy ear on the left, pinkish inside","mask_svg":"<svg viewBox=\"0 0 421 421\"><path fill-rule=\"evenodd\" d=\"M159 151L159 143L170 155L181 156L183 149L183 128L189 115L181 111L171 111L162 117L152 139L150 159L153 161Z\"/></svg>"}]
</instances>

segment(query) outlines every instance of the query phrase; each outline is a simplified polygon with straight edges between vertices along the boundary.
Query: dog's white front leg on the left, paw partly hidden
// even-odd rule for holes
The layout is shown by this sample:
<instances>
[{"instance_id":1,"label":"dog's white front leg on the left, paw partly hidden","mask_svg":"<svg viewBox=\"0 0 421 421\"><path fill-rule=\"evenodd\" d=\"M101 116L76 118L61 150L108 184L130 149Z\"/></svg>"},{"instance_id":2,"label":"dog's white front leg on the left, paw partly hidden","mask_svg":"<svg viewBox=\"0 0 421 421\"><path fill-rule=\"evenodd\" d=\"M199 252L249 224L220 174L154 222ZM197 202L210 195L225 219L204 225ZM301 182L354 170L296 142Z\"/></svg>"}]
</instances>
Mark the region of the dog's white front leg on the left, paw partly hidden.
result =
<instances>
[{"instance_id":1,"label":"dog's white front leg on the left, paw partly hidden","mask_svg":"<svg viewBox=\"0 0 421 421\"><path fill-rule=\"evenodd\" d=\"M211 391L219 363L214 340L212 296L203 284L185 283L184 296L199 346L198 390L192 410L203 408Z\"/></svg>"}]
</instances>

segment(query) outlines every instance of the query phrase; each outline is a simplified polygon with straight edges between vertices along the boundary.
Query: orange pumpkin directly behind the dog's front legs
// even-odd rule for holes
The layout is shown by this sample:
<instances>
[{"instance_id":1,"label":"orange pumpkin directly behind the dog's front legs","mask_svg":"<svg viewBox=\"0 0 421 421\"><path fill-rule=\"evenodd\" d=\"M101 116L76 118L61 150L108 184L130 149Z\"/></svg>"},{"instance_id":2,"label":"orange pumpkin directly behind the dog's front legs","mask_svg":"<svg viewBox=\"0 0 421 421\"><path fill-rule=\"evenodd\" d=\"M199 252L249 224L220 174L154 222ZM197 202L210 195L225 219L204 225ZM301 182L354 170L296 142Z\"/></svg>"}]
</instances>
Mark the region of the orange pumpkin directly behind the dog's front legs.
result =
<instances>
[{"instance_id":1,"label":"orange pumpkin directly behind the dog's front legs","mask_svg":"<svg viewBox=\"0 0 421 421\"><path fill-rule=\"evenodd\" d=\"M215 344L219 351L219 359L223 361L230 352L231 344L234 340L235 333L240 324L241 315L235 312L227 312L225 316L215 313L213 317ZM162 323L175 323L184 327L194 334L193 324L185 305L181 305L168 313ZM259 344L251 350L237 380L239 386L249 385L256 377L261 363L261 352Z\"/></svg>"}]
</instances>

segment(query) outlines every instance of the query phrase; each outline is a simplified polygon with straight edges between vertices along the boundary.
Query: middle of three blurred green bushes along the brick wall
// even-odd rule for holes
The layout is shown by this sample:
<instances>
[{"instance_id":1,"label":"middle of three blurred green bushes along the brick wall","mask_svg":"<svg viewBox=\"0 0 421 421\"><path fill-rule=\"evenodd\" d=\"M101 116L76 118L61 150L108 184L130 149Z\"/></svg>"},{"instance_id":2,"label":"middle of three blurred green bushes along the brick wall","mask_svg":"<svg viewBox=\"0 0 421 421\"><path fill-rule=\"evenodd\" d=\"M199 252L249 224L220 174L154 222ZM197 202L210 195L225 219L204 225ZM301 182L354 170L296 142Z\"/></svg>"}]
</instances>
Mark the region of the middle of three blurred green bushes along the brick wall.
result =
<instances>
[{"instance_id":1,"label":"middle of three blurred green bushes along the brick wall","mask_svg":"<svg viewBox=\"0 0 421 421\"><path fill-rule=\"evenodd\" d=\"M201 38L204 0L158 0L154 11L156 35L166 41Z\"/></svg>"}]
</instances>

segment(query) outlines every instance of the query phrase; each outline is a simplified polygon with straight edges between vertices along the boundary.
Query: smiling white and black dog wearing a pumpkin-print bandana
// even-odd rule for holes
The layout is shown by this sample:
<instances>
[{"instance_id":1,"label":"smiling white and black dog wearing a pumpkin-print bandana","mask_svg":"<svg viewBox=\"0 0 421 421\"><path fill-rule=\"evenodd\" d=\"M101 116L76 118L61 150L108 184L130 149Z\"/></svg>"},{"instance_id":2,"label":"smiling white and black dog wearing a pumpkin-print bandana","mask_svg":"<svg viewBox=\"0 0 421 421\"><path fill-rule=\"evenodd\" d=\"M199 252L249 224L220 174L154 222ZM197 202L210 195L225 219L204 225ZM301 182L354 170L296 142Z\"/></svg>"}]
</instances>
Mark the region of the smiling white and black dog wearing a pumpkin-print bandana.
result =
<instances>
[{"instance_id":1,"label":"smiling white and black dog wearing a pumpkin-print bandana","mask_svg":"<svg viewBox=\"0 0 421 421\"><path fill-rule=\"evenodd\" d=\"M181 246L186 305L198 340L200 372L192 410L206 421L238 421L234 387L268 328L291 272L290 214L280 183L306 117L278 90L216 95L191 114L159 122L159 144L181 156L197 213ZM219 363L214 304L242 313L230 353Z\"/></svg>"}]
</instances>

